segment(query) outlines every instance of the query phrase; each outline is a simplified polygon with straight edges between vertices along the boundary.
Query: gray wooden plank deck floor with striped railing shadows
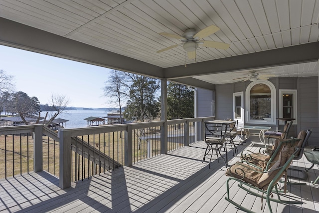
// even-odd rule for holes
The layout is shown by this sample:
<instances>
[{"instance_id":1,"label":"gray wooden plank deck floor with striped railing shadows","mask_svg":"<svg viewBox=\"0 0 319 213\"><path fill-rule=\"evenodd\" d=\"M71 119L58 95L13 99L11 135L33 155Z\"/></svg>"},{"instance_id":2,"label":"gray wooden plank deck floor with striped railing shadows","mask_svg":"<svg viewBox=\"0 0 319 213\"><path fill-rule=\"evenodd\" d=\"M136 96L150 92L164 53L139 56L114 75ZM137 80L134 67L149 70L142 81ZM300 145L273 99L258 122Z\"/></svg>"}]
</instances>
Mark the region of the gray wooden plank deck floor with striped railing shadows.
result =
<instances>
[{"instance_id":1,"label":"gray wooden plank deck floor with striped railing shadows","mask_svg":"<svg viewBox=\"0 0 319 213\"><path fill-rule=\"evenodd\" d=\"M241 150L257 150L261 144L247 142ZM225 165L222 160L202 163L205 143L199 142L166 155L149 159L133 167L95 176L61 190L58 179L45 171L0 180L0 212L148 212L148 213L235 213L242 212L228 203ZM228 152L229 165L239 160ZM294 168L310 167L306 159ZM277 213L315 213L319 211L319 187L310 181L319 175L315 166L308 172L307 186L288 186L288 196L303 205L272 203ZM293 180L296 181L296 180ZM233 184L233 183L232 183ZM231 197L255 212L268 213L261 199L231 186ZM289 199L289 197L288 197Z\"/></svg>"}]
</instances>

